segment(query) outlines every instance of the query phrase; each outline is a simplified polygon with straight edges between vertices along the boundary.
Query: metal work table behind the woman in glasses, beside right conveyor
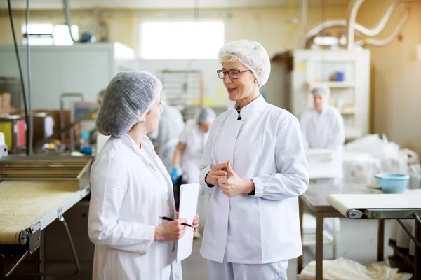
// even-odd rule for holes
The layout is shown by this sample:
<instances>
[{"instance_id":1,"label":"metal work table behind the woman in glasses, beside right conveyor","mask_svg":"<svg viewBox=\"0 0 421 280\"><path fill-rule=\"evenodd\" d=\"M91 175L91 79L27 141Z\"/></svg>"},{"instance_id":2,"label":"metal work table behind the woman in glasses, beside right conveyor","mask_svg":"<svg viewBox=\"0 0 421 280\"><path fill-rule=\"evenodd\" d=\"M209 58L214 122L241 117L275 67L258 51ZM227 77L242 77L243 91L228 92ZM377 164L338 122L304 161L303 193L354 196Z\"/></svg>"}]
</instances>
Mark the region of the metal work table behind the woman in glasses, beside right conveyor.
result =
<instances>
[{"instance_id":1,"label":"metal work table behind the woman in glasses, beside right conveyor","mask_svg":"<svg viewBox=\"0 0 421 280\"><path fill-rule=\"evenodd\" d=\"M327 197L330 194L341 194L341 193L358 193L358 194L369 194L369 193L382 193L380 189L368 188L366 185L322 185L314 184L310 185L307 191L300 195L300 227L302 235L302 217L304 214L305 207L309 209L312 214L316 217L316 280L323 279L323 219L324 218L345 218L337 209L335 209L327 201ZM384 254L384 237L385 237L385 223L383 220L379 220L378 226L378 239L377 239L377 260L383 260ZM298 257L297 264L298 274L302 271L302 255Z\"/></svg>"}]
</instances>

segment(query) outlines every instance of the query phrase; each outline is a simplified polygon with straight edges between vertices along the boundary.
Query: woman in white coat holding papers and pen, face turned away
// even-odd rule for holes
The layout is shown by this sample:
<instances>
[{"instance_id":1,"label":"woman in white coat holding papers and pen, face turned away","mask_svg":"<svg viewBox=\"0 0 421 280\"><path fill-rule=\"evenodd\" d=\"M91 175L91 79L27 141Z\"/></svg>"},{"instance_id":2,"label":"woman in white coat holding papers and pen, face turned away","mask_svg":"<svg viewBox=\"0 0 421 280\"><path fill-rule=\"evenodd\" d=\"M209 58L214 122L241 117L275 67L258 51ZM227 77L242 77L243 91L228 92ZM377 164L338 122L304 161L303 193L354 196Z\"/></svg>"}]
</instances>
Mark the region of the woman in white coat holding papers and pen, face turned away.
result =
<instances>
[{"instance_id":1,"label":"woman in white coat holding papers and pen, face turned away","mask_svg":"<svg viewBox=\"0 0 421 280\"><path fill-rule=\"evenodd\" d=\"M171 178L146 136L161 118L161 90L152 74L127 71L105 92L96 124L111 137L91 168L93 279L182 279L176 241L193 229L177 217Z\"/></svg>"}]
</instances>

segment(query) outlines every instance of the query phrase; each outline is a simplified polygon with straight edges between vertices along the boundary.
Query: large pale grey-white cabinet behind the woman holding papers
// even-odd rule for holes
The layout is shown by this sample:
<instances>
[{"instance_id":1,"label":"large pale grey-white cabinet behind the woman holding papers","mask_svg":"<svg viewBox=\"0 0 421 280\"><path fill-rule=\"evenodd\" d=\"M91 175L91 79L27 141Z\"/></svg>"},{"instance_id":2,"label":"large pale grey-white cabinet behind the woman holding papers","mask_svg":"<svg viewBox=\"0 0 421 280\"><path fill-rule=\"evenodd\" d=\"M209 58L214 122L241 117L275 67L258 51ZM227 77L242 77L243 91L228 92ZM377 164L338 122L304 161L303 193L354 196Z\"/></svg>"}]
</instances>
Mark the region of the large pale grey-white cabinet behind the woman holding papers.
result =
<instances>
[{"instance_id":1,"label":"large pale grey-white cabinet behind the woman holding papers","mask_svg":"<svg viewBox=\"0 0 421 280\"><path fill-rule=\"evenodd\" d=\"M27 87L26 47L18 50ZM135 69L135 52L120 43L31 46L30 58L33 109L58 109L65 92L95 101L116 73ZM0 45L0 76L19 77L13 45Z\"/></svg>"}]
</instances>

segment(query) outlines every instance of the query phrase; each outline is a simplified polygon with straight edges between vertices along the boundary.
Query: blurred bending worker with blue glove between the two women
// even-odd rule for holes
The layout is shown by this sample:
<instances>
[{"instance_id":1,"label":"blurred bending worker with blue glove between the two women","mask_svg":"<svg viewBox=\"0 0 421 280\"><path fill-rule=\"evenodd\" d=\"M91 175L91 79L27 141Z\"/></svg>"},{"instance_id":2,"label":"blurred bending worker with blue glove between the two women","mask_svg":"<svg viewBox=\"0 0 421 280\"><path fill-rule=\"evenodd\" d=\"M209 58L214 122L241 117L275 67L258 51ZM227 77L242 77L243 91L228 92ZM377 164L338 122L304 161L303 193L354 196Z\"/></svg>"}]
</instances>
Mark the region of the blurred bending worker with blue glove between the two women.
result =
<instances>
[{"instance_id":1,"label":"blurred bending worker with blue glove between the two women","mask_svg":"<svg viewBox=\"0 0 421 280\"><path fill-rule=\"evenodd\" d=\"M203 153L206 140L208 139L210 126L215 120L216 114L213 109L203 107L196 120L188 120L185 129L180 135L180 142L175 148L173 171L171 179L176 185L182 170L183 183L198 183L200 174L200 158ZM181 168L180 168L181 164ZM177 195L179 192L175 192ZM204 194L201 193L201 197ZM203 205L202 205L203 206ZM200 238L199 230L194 233L194 238Z\"/></svg>"}]
</instances>

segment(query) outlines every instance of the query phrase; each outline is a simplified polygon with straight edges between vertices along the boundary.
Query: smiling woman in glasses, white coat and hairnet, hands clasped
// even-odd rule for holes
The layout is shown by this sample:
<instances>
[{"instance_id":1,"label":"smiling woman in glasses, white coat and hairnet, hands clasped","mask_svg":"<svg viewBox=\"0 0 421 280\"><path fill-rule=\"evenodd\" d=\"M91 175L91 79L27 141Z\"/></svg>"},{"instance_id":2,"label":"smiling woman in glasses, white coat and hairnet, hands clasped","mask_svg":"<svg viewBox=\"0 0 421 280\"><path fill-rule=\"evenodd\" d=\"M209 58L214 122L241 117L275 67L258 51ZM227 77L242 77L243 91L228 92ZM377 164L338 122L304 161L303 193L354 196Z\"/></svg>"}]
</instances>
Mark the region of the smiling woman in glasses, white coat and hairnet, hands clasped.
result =
<instances>
[{"instance_id":1,"label":"smiling woman in glasses, white coat and hairnet, hands clasped","mask_svg":"<svg viewBox=\"0 0 421 280\"><path fill-rule=\"evenodd\" d=\"M218 60L236 104L213 122L201 158L199 183L212 192L200 249L208 279L286 279L302 255L298 196L309 184L300 125L260 94L270 73L262 45L227 43Z\"/></svg>"}]
</instances>

